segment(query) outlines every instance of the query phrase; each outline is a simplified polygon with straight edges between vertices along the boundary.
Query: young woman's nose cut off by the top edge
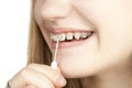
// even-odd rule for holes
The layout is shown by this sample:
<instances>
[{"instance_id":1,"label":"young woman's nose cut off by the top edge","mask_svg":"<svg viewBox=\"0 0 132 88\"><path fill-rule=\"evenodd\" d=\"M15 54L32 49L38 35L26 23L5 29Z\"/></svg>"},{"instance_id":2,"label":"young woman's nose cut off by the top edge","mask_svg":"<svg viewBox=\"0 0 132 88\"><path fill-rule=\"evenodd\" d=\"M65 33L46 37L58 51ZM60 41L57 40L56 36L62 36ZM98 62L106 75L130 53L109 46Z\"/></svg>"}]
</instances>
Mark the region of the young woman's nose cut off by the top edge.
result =
<instances>
[{"instance_id":1,"label":"young woman's nose cut off by the top edge","mask_svg":"<svg viewBox=\"0 0 132 88\"><path fill-rule=\"evenodd\" d=\"M64 19L72 12L69 0L45 0L42 8L42 16L44 20L54 21Z\"/></svg>"}]
</instances>

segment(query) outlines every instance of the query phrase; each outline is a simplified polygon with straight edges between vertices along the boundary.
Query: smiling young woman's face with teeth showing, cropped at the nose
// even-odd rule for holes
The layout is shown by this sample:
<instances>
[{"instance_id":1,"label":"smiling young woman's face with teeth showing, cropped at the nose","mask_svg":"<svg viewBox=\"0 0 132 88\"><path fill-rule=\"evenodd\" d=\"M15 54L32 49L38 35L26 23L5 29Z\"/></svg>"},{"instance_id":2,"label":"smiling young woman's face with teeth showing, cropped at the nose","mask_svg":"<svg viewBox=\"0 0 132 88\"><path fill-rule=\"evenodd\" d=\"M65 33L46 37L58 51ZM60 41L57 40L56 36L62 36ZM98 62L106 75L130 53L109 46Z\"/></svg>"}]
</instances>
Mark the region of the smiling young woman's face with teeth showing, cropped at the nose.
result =
<instances>
[{"instance_id":1,"label":"smiling young woman's face with teeth showing, cropped at the nose","mask_svg":"<svg viewBox=\"0 0 132 88\"><path fill-rule=\"evenodd\" d=\"M36 22L68 78L125 64L132 52L132 0L36 0ZM52 38L51 38L52 37Z\"/></svg>"}]
</instances>

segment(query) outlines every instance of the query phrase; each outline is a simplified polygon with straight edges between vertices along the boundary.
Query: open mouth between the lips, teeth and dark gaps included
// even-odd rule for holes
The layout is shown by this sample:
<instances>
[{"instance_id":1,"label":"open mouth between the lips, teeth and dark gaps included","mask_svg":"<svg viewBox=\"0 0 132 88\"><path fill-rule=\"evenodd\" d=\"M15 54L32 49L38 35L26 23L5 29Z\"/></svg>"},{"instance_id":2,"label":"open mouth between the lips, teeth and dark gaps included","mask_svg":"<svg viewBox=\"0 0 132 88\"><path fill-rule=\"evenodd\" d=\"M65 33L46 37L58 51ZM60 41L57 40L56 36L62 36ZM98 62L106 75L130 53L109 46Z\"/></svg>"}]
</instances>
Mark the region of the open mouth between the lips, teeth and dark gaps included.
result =
<instances>
[{"instance_id":1,"label":"open mouth between the lips, teeth and dark gaps included","mask_svg":"<svg viewBox=\"0 0 132 88\"><path fill-rule=\"evenodd\" d=\"M51 38L54 43L59 41L59 43L74 42L74 41L85 41L94 34L94 31L81 31L81 32L67 32L59 34L51 34Z\"/></svg>"}]
</instances>

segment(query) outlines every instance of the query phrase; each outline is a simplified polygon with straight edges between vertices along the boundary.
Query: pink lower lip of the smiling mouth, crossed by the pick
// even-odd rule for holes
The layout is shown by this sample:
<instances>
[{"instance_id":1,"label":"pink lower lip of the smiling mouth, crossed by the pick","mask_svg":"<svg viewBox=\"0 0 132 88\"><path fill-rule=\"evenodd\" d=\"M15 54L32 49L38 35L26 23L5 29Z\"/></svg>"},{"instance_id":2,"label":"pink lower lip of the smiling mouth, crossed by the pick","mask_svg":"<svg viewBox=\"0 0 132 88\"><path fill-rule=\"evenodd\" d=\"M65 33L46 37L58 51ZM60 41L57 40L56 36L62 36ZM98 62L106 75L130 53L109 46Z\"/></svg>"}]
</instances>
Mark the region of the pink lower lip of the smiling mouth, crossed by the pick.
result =
<instances>
[{"instance_id":1,"label":"pink lower lip of the smiling mouth, crossed by the pick","mask_svg":"<svg viewBox=\"0 0 132 88\"><path fill-rule=\"evenodd\" d=\"M58 48L63 50L63 48L70 48L70 47L79 46L84 43L87 43L90 40L90 37L92 37L92 36L94 36L94 34L86 40L78 40L78 41L72 41L72 42L59 42ZM56 47L56 43L52 42L52 48L55 50L55 47Z\"/></svg>"}]
</instances>

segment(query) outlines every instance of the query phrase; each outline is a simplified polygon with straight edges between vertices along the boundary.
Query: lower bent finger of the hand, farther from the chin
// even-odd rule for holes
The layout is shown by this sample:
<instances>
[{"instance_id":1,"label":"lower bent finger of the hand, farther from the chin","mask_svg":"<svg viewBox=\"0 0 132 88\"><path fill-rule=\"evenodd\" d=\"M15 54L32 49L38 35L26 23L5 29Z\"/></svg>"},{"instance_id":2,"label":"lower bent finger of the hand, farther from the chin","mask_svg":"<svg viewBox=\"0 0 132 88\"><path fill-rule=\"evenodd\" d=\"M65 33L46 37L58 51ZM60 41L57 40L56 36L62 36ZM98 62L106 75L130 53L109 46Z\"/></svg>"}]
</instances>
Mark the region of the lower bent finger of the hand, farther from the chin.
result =
<instances>
[{"instance_id":1,"label":"lower bent finger of the hand, farther from the chin","mask_svg":"<svg viewBox=\"0 0 132 88\"><path fill-rule=\"evenodd\" d=\"M55 88L48 78L30 68L22 69L11 81L11 88L23 88L26 86Z\"/></svg>"}]
</instances>

